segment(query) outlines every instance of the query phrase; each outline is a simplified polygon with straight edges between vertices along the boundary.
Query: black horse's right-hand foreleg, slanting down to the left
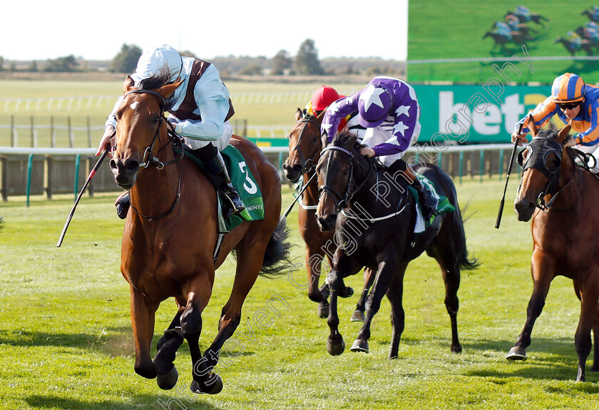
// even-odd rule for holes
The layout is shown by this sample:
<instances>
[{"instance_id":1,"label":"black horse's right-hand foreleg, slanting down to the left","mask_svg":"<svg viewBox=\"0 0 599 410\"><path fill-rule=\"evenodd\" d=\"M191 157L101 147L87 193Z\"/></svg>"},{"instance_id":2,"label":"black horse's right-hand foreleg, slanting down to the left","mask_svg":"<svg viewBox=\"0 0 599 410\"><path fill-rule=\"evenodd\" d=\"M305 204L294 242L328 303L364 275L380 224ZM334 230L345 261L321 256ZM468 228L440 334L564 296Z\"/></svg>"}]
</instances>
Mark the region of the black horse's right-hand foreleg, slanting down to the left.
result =
<instances>
[{"instance_id":1,"label":"black horse's right-hand foreleg, slanting down to the left","mask_svg":"<svg viewBox=\"0 0 599 410\"><path fill-rule=\"evenodd\" d=\"M366 301L366 316L364 317L364 324L358 333L357 339L350 348L352 352L369 351L368 339L370 339L370 325L372 324L372 319L374 318L374 315L379 312L379 309L381 308L381 300L384 294L386 294L387 289L389 289L391 282L393 280L401 280L403 282L406 267L406 263L400 266L396 260L385 260L384 262L379 263L377 277L374 279L372 290ZM399 339L396 340L399 343Z\"/></svg>"}]
</instances>

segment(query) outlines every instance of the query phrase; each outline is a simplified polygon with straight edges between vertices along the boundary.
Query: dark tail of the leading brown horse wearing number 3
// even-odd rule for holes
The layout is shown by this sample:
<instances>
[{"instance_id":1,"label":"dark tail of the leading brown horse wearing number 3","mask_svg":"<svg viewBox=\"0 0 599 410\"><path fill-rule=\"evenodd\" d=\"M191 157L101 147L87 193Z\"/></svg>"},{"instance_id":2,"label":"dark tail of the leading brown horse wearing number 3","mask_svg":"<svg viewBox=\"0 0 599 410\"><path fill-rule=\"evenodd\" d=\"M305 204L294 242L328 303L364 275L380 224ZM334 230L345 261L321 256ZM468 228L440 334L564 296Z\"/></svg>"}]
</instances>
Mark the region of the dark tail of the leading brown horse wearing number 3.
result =
<instances>
[{"instance_id":1,"label":"dark tail of the leading brown horse wearing number 3","mask_svg":"<svg viewBox=\"0 0 599 410\"><path fill-rule=\"evenodd\" d=\"M293 269L293 262L290 259L292 245L288 241L289 234L287 220L281 218L266 246L260 276L278 277L287 275Z\"/></svg>"}]
</instances>

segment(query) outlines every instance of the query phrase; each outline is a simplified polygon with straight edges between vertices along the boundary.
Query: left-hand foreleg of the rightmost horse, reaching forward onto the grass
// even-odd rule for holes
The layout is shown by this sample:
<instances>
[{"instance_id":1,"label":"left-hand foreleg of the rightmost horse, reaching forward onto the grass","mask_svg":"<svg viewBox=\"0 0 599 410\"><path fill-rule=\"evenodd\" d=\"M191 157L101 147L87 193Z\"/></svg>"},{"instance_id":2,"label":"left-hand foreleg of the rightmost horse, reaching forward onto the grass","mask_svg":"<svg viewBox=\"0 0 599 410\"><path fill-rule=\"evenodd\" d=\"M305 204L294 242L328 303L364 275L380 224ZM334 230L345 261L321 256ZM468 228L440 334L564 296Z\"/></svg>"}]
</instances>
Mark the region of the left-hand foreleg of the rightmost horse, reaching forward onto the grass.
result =
<instances>
[{"instance_id":1,"label":"left-hand foreleg of the rightmost horse, reaching forward onto the grass","mask_svg":"<svg viewBox=\"0 0 599 410\"><path fill-rule=\"evenodd\" d=\"M516 344L508 352L506 359L510 362L516 360L526 360L526 348L531 344L531 334L535 325L536 319L541 315L545 306L545 299L549 292L549 287L554 274L555 262L550 257L541 255L541 252L533 252L533 260L531 262L531 275L533 277L533 294L528 301L526 308L526 322L521 334L516 340Z\"/></svg>"}]
</instances>

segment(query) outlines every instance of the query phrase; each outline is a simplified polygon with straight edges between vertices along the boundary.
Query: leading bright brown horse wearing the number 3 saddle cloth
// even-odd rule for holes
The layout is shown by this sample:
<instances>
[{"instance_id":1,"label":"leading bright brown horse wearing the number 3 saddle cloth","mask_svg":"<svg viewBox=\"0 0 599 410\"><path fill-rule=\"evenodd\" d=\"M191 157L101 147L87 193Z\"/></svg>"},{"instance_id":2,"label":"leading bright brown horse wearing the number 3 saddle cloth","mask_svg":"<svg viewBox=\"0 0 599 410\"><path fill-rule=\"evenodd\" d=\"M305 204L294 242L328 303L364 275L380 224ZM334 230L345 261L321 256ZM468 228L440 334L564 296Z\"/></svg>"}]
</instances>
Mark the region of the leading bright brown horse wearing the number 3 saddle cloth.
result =
<instances>
[{"instance_id":1,"label":"leading bright brown horse wearing the number 3 saddle cloth","mask_svg":"<svg viewBox=\"0 0 599 410\"><path fill-rule=\"evenodd\" d=\"M218 393L220 376L213 371L223 343L240 323L242 304L262 274L277 275L289 262L285 223L280 223L281 182L277 169L249 140L234 136L252 170L264 199L265 217L242 222L222 238L217 258L217 194L204 173L188 158L175 155L164 111L180 83L168 76L150 78L140 89L128 77L124 99L116 113L116 151L111 170L116 183L130 190L121 247L121 272L130 284L130 312L135 339L135 372L158 386L171 389L178 379L173 365L183 339L193 361L191 389ZM160 158L160 159L158 159ZM232 250L237 270L230 297L222 308L218 333L204 354L200 352L202 312L212 294L215 270ZM286 263L283 265L287 265ZM150 357L158 305L175 297L178 312Z\"/></svg>"}]
</instances>

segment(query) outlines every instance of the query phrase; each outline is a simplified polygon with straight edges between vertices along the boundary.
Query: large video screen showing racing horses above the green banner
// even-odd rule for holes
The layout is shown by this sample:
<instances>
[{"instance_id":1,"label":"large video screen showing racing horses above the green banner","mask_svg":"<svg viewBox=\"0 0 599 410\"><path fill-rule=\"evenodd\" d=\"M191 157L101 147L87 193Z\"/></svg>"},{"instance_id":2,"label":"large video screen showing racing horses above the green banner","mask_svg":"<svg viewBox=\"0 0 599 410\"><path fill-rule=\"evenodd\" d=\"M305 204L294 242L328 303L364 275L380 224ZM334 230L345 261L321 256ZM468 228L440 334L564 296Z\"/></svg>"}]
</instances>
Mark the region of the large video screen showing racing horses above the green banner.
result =
<instances>
[{"instance_id":1,"label":"large video screen showing racing horses above the green banner","mask_svg":"<svg viewBox=\"0 0 599 410\"><path fill-rule=\"evenodd\" d=\"M577 73L599 82L599 0L409 1L412 83L551 83ZM511 63L511 65L507 65Z\"/></svg>"}]
</instances>

